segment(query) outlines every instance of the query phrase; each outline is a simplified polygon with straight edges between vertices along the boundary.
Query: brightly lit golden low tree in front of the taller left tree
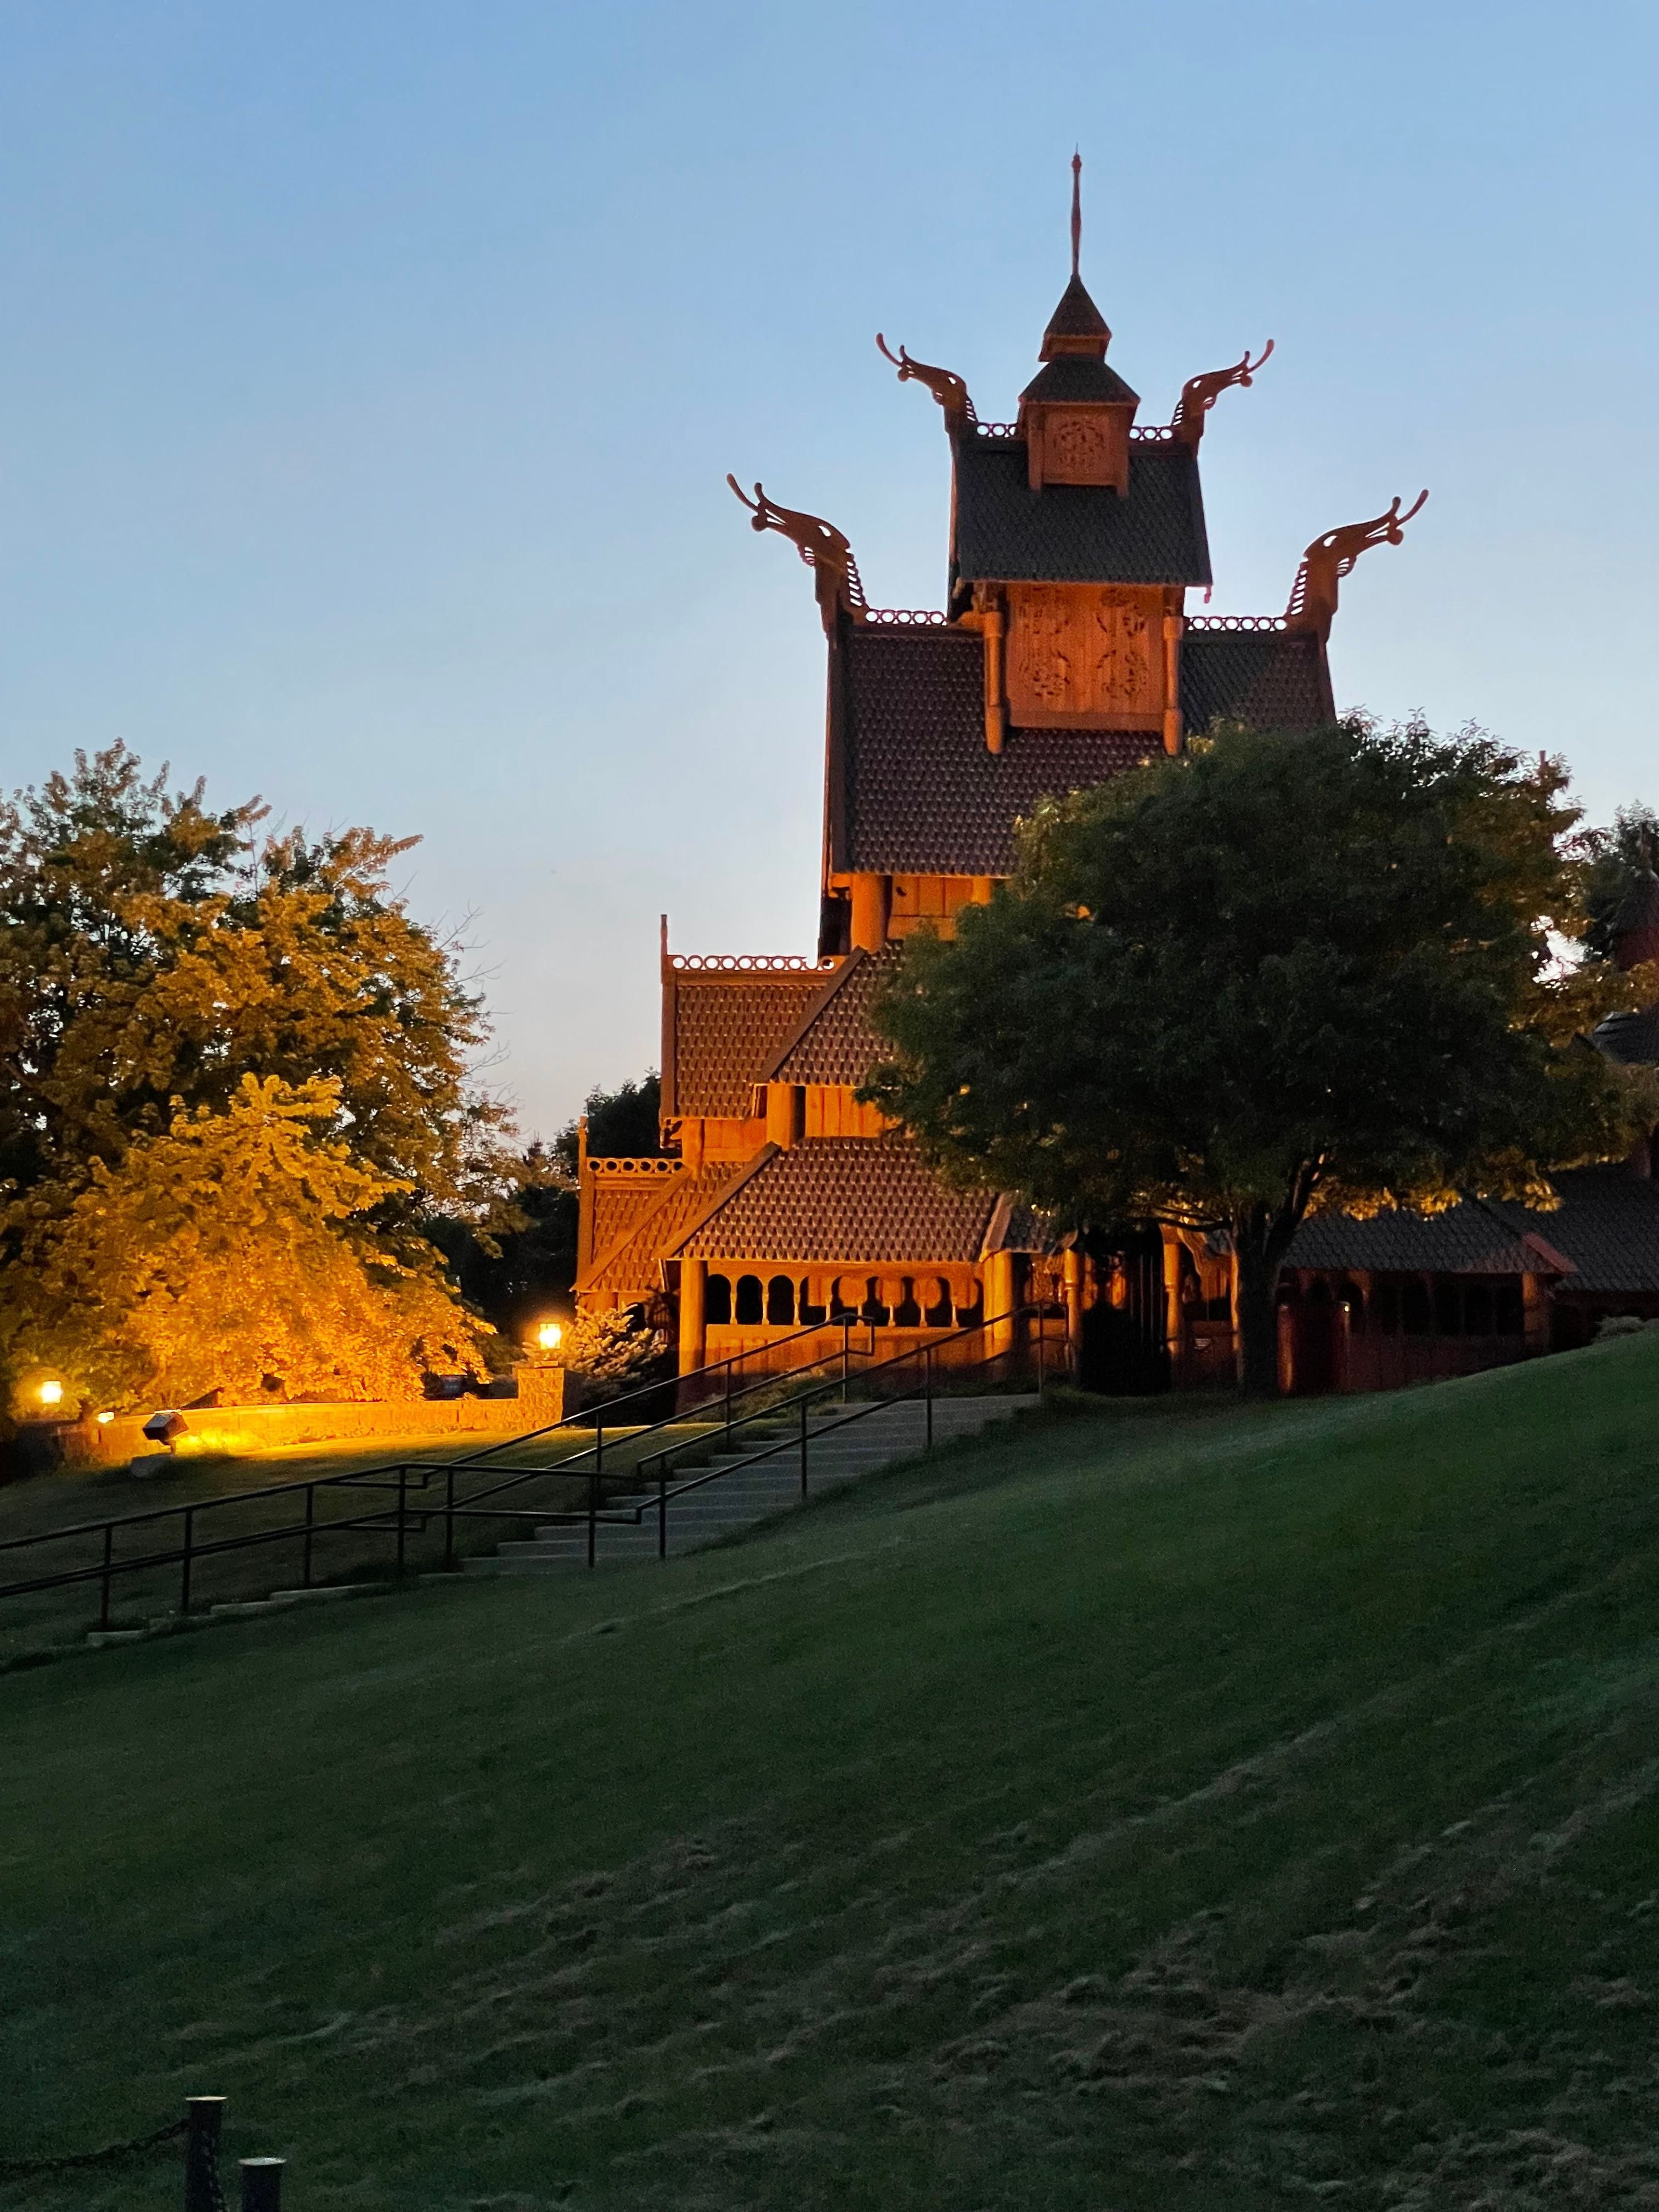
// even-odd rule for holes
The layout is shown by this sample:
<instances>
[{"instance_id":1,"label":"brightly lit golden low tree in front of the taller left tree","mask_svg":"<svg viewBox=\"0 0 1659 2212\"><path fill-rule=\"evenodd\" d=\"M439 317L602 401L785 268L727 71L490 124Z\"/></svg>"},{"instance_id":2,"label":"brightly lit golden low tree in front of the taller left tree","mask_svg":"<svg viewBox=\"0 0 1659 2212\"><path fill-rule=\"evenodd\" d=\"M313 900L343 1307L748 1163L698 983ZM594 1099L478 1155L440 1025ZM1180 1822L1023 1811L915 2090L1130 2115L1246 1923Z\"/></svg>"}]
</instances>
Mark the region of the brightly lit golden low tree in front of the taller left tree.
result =
<instances>
[{"instance_id":1,"label":"brightly lit golden low tree in front of the taller left tree","mask_svg":"<svg viewBox=\"0 0 1659 2212\"><path fill-rule=\"evenodd\" d=\"M66 1208L18 1221L7 1301L13 1371L77 1398L405 1398L425 1367L484 1369L436 1252L387 1252L372 1217L394 1183L330 1139L338 1079L243 1075L223 1113L179 1110Z\"/></svg>"}]
</instances>

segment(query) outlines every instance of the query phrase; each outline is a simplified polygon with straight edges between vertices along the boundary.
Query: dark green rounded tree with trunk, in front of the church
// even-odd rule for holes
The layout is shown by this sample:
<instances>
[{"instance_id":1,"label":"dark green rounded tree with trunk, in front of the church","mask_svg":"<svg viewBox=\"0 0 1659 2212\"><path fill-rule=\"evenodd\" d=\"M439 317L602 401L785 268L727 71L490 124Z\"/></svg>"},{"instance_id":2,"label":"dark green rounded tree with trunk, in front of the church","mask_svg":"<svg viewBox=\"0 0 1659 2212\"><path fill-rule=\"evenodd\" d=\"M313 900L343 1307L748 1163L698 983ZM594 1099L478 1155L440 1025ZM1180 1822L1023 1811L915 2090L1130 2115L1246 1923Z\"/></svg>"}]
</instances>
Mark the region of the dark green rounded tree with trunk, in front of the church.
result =
<instances>
[{"instance_id":1,"label":"dark green rounded tree with trunk, in front of the church","mask_svg":"<svg viewBox=\"0 0 1659 2212\"><path fill-rule=\"evenodd\" d=\"M1553 953L1584 929L1564 785L1478 732L1349 721L1048 801L991 905L911 940L863 1095L1073 1225L1228 1230L1245 1387L1272 1391L1310 1208L1548 1203L1551 1166L1652 1119L1577 1037L1632 984Z\"/></svg>"}]
</instances>

